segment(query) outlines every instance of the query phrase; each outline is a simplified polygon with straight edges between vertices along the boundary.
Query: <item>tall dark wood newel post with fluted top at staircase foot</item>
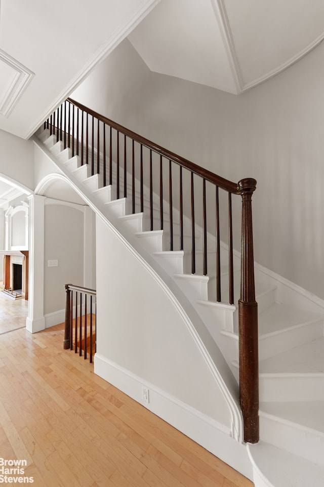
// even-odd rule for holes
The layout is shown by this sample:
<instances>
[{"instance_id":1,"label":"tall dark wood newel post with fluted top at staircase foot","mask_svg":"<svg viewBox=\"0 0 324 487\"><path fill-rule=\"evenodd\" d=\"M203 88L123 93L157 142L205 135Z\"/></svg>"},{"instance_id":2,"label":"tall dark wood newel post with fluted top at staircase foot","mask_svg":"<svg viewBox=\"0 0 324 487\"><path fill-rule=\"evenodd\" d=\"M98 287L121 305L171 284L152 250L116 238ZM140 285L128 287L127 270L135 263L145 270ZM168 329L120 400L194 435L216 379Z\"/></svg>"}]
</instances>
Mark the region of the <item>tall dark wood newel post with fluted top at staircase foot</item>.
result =
<instances>
[{"instance_id":1,"label":"tall dark wood newel post with fluted top at staircase foot","mask_svg":"<svg viewBox=\"0 0 324 487\"><path fill-rule=\"evenodd\" d=\"M241 286L238 301L239 399L244 421L244 440L259 441L258 303L255 300L252 231L252 194L256 180L242 179Z\"/></svg>"}]
</instances>

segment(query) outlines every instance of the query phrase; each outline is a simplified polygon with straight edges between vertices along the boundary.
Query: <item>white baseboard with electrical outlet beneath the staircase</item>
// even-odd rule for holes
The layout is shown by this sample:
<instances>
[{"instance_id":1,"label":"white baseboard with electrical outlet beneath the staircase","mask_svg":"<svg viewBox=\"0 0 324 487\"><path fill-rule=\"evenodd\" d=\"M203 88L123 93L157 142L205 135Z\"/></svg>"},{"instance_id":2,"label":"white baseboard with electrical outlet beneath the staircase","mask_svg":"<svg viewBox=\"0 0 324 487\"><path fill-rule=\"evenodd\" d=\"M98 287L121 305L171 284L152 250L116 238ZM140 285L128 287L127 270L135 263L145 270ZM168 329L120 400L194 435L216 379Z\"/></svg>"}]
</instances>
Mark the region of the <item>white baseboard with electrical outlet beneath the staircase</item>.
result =
<instances>
[{"instance_id":1,"label":"white baseboard with electrical outlet beneath the staircase","mask_svg":"<svg viewBox=\"0 0 324 487\"><path fill-rule=\"evenodd\" d=\"M213 455L252 479L252 466L246 445L233 439L228 427L98 353L94 358L94 372ZM149 403L142 399L143 386L149 391Z\"/></svg>"}]
</instances>

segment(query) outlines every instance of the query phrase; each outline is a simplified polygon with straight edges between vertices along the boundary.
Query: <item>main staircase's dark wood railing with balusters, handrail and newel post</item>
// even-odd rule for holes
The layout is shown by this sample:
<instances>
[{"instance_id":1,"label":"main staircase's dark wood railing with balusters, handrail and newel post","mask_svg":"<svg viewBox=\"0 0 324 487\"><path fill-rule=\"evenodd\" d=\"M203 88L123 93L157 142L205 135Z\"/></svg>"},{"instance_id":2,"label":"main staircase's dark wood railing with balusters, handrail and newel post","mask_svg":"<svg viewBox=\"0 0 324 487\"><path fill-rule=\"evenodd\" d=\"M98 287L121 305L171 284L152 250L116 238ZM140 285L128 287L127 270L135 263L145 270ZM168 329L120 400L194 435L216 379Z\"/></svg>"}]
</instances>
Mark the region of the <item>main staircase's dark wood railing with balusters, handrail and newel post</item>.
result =
<instances>
[{"instance_id":1,"label":"main staircase's dark wood railing with balusters, handrail and newel post","mask_svg":"<svg viewBox=\"0 0 324 487\"><path fill-rule=\"evenodd\" d=\"M234 303L232 195L241 196L241 273L238 300L240 405L244 418L245 441L257 442L258 305L255 300L252 232L252 194L256 189L256 181L247 178L233 183L221 178L71 99L62 103L44 126L56 136L57 141L63 142L64 148L70 148L72 157L78 155L82 165L91 166L92 175L102 173L104 186L114 184L117 199L130 197L133 213L144 211L144 187L149 188L150 229L163 230L168 227L171 251L184 250L189 237L191 273L199 271L207 275L208 265L213 264L216 268L217 302ZM153 207L156 193L158 215ZM166 205L168 208L164 207ZM158 228L154 228L156 217ZM186 235L185 231L185 221L188 219L190 235ZM198 227L202 232L196 235L199 233ZM236 226L234 230L237 230ZM208 262L208 256L211 255L211 249L207 248L208 231L215 235L214 262ZM226 235L222 240L227 240L228 245L228 286L226 285L225 290L221 286L221 233L222 236ZM202 249L199 250L196 248L198 237L202 240Z\"/></svg>"}]
</instances>

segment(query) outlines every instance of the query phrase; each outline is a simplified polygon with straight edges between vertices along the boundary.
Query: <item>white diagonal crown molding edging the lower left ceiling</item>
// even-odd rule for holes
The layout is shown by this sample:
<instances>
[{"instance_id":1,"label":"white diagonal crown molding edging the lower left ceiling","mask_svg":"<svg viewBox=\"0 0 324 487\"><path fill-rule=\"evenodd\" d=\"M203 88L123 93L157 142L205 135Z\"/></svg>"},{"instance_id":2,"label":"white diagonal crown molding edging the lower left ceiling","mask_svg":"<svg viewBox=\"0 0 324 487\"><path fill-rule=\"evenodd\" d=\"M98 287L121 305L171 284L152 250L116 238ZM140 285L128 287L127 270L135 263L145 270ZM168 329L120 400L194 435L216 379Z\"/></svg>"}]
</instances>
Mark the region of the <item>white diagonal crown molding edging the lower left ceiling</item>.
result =
<instances>
[{"instance_id":1,"label":"white diagonal crown molding edging the lower left ceiling","mask_svg":"<svg viewBox=\"0 0 324 487\"><path fill-rule=\"evenodd\" d=\"M71 83L58 95L53 104L43 113L42 117L39 118L25 134L24 138L28 139L37 130L38 127L42 125L44 120L46 120L51 113L53 113L62 100L65 100L72 91L89 75L92 69L102 61L106 56L108 56L115 47L120 44L131 31L146 17L146 15L160 2L161 0L143 0L138 9L133 12L128 19L123 22L110 36L110 38L103 44L103 46L88 60L87 64L83 69L76 75L76 77L71 81Z\"/></svg>"}]
</instances>

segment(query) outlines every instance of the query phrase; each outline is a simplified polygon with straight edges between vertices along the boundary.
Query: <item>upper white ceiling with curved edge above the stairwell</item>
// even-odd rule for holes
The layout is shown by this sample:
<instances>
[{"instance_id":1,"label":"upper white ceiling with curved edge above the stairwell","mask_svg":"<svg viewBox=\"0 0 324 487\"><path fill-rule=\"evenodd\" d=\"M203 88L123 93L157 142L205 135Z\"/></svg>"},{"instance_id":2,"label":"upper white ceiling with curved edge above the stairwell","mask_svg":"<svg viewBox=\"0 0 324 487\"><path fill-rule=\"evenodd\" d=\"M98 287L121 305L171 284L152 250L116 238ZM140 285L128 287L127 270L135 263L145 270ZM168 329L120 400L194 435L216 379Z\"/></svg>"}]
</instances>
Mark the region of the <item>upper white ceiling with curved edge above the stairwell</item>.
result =
<instances>
[{"instance_id":1,"label":"upper white ceiling with curved edge above the stairwell","mask_svg":"<svg viewBox=\"0 0 324 487\"><path fill-rule=\"evenodd\" d=\"M161 0L129 35L151 71L235 94L323 38L323 0Z\"/></svg>"}]
</instances>

